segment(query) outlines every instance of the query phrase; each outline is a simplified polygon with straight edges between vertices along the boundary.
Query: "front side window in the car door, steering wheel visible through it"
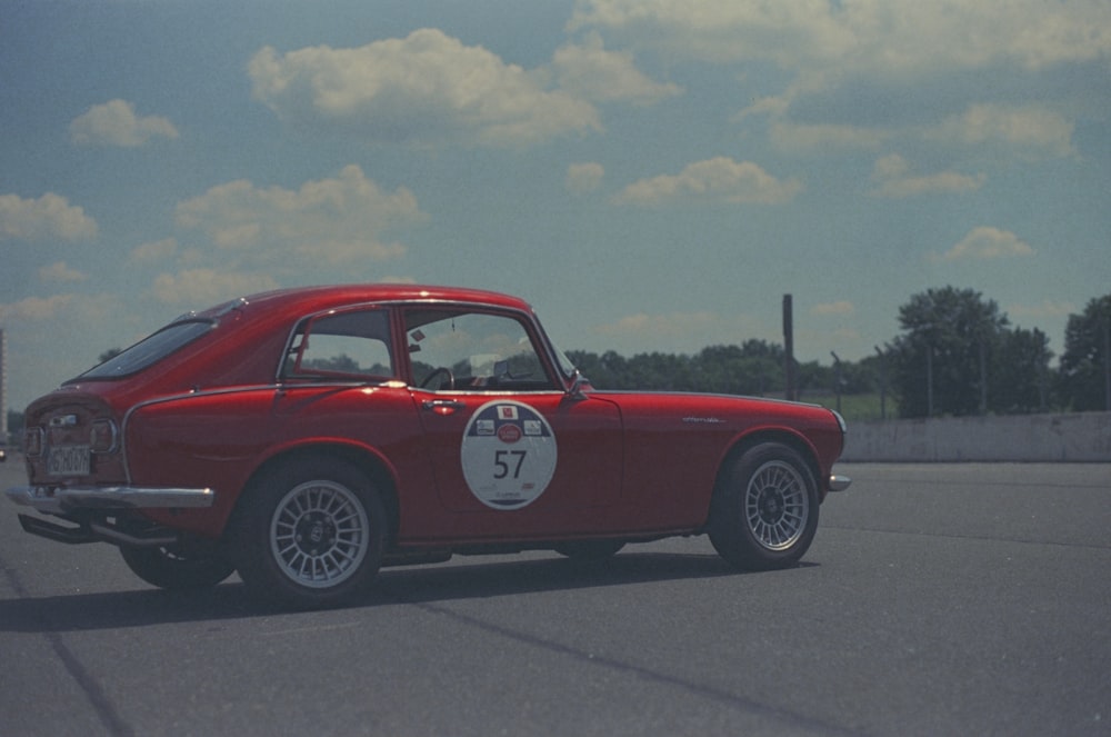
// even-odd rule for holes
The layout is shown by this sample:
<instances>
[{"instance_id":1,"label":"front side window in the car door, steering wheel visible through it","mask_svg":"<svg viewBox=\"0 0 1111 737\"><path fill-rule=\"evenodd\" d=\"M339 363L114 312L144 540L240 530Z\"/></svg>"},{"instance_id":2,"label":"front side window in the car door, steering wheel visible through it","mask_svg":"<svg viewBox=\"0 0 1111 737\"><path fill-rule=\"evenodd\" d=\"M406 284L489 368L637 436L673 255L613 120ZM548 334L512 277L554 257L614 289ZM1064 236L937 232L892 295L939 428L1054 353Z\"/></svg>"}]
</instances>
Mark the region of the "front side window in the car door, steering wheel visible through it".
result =
<instances>
[{"instance_id":1,"label":"front side window in the car door, steering wheel visible through it","mask_svg":"<svg viewBox=\"0 0 1111 737\"><path fill-rule=\"evenodd\" d=\"M487 312L414 309L406 315L413 386L464 391L551 389L518 320Z\"/></svg>"}]
</instances>

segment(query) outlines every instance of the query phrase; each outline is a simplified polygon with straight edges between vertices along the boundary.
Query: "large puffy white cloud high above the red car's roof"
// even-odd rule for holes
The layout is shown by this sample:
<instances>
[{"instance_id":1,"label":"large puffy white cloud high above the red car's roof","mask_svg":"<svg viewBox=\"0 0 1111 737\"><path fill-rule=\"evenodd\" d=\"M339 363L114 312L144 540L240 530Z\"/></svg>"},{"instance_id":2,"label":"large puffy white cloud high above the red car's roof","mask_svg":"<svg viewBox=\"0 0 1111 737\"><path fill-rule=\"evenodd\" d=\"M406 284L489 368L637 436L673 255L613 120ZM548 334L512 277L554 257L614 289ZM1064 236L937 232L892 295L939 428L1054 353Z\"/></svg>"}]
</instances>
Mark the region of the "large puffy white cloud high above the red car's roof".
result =
<instances>
[{"instance_id":1,"label":"large puffy white cloud high above the red car's roof","mask_svg":"<svg viewBox=\"0 0 1111 737\"><path fill-rule=\"evenodd\" d=\"M523 146L601 128L591 104L543 89L543 74L437 29L356 49L267 47L249 72L282 118L374 142Z\"/></svg>"}]
</instances>

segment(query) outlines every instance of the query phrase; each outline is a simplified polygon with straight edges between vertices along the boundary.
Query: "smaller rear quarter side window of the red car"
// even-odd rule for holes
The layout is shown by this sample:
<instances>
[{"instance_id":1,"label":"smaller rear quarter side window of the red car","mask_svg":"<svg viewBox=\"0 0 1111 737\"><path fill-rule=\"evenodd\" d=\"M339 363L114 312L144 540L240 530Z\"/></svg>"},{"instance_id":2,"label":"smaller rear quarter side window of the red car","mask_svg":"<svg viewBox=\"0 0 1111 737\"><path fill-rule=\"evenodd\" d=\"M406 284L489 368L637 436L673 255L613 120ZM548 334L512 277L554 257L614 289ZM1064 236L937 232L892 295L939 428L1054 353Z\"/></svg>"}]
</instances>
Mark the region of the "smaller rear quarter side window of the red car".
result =
<instances>
[{"instance_id":1,"label":"smaller rear quarter side window of the red car","mask_svg":"<svg viewBox=\"0 0 1111 737\"><path fill-rule=\"evenodd\" d=\"M381 378L397 376L384 310L334 312L298 329L283 370L286 378Z\"/></svg>"}]
</instances>

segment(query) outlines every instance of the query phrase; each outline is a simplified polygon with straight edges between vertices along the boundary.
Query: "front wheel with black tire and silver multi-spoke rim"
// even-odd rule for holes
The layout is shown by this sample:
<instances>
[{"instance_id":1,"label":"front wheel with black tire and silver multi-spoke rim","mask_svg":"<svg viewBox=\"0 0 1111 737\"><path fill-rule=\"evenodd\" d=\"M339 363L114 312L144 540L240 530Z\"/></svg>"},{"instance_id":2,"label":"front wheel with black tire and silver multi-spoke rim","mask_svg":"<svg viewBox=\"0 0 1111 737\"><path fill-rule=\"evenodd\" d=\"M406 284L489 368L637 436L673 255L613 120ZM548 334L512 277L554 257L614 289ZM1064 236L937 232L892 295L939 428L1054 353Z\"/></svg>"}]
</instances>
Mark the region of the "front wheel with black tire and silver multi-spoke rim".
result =
<instances>
[{"instance_id":1,"label":"front wheel with black tire and silver multi-spoke rim","mask_svg":"<svg viewBox=\"0 0 1111 737\"><path fill-rule=\"evenodd\" d=\"M778 442L750 448L718 479L710 541L744 570L795 565L818 530L818 485L802 457Z\"/></svg>"}]
</instances>

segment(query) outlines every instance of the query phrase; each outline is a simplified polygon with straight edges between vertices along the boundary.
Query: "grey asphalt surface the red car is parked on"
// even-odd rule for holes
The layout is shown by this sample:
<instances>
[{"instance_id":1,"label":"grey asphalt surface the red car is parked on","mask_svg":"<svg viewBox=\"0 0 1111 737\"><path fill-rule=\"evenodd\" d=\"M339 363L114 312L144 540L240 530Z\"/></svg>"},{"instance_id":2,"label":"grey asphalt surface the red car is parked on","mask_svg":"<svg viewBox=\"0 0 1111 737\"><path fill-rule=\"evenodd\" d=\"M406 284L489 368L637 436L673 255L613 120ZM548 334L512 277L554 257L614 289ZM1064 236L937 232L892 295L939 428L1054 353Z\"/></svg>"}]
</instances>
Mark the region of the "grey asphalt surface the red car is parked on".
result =
<instances>
[{"instance_id":1,"label":"grey asphalt surface the red car is parked on","mask_svg":"<svg viewBox=\"0 0 1111 737\"><path fill-rule=\"evenodd\" d=\"M839 470L791 570L456 558L309 614L152 589L0 499L0 733L1111 735L1111 465Z\"/></svg>"}]
</instances>

